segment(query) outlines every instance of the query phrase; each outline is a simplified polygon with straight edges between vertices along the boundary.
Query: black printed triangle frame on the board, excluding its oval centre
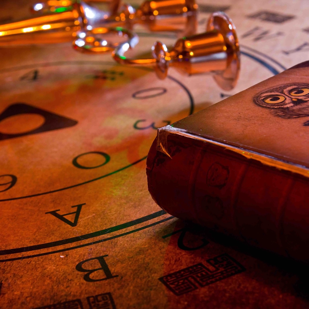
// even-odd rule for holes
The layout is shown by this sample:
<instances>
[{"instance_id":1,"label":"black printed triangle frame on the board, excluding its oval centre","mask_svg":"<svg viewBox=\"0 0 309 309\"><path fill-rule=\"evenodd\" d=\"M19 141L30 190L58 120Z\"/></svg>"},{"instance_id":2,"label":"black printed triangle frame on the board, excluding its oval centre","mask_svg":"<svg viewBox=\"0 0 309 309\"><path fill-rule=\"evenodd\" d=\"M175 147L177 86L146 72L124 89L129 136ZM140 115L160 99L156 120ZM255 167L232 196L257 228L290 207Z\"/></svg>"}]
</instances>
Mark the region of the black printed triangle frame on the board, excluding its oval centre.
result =
<instances>
[{"instance_id":1,"label":"black printed triangle frame on the board, excluding its oval centre","mask_svg":"<svg viewBox=\"0 0 309 309\"><path fill-rule=\"evenodd\" d=\"M0 115L0 121L15 115L20 114L38 114L45 118L45 122L39 128L36 128L29 132L18 133L18 134L4 134L0 132L0 141L15 138L20 136L26 136L36 133L47 132L51 130L68 128L76 125L78 121L70 118L66 118L61 115L54 114L52 112L45 111L44 109L37 108L25 103L15 103L6 108Z\"/></svg>"}]
</instances>

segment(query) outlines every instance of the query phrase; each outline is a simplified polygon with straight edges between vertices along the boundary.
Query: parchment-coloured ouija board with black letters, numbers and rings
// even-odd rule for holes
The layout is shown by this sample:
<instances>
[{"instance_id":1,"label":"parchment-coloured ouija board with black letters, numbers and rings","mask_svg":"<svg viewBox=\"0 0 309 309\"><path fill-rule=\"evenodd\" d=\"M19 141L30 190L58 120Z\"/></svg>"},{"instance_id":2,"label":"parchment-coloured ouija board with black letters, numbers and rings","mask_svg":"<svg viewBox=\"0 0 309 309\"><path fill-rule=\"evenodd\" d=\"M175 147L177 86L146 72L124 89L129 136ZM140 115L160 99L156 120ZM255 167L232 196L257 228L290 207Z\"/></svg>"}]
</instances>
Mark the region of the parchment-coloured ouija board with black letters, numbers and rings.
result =
<instances>
[{"instance_id":1,"label":"parchment-coloured ouija board with black letters, numbers and rings","mask_svg":"<svg viewBox=\"0 0 309 309\"><path fill-rule=\"evenodd\" d=\"M308 60L306 1L198 4L199 32L213 11L235 23L232 91L173 69L159 80L70 42L0 49L1 308L309 307L305 268L187 225L148 193L157 128ZM29 5L2 1L1 22ZM135 30L136 54L176 40Z\"/></svg>"}]
</instances>

